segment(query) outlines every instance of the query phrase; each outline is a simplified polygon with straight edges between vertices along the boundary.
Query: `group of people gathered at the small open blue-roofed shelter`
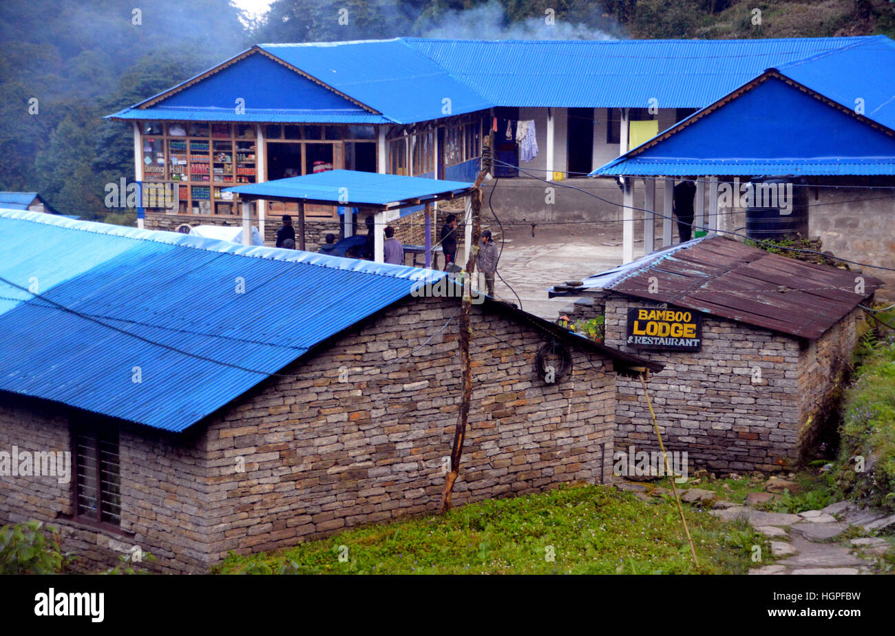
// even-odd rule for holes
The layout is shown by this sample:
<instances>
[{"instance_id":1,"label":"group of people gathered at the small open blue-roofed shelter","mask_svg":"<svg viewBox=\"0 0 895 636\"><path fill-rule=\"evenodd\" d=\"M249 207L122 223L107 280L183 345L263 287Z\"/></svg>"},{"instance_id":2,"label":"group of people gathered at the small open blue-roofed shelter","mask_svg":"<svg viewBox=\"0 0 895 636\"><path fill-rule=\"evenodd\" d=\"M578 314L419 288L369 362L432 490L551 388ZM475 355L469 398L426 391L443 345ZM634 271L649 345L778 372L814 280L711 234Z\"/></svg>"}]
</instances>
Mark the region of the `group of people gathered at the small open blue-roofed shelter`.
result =
<instances>
[{"instance_id":1,"label":"group of people gathered at the small open blue-roofed shelter","mask_svg":"<svg viewBox=\"0 0 895 636\"><path fill-rule=\"evenodd\" d=\"M367 216L367 239L364 242L359 256L362 259L372 260L376 225L372 216ZM445 271L456 267L456 216L447 215L445 225L441 226L439 243L445 255ZM277 247L286 250L295 249L295 229L292 226L292 216L283 215L283 226L277 230ZM326 243L318 250L321 254L328 254L336 249L336 235L327 234ZM347 255L347 253L346 253ZM395 228L391 225L385 228L385 241L382 243L382 259L392 265L404 265L404 245L395 238ZM491 238L490 230L482 231L482 242L479 243L479 253L475 257L475 267L485 276L485 286L488 295L494 295L494 276L498 270L500 258L498 245Z\"/></svg>"}]
</instances>

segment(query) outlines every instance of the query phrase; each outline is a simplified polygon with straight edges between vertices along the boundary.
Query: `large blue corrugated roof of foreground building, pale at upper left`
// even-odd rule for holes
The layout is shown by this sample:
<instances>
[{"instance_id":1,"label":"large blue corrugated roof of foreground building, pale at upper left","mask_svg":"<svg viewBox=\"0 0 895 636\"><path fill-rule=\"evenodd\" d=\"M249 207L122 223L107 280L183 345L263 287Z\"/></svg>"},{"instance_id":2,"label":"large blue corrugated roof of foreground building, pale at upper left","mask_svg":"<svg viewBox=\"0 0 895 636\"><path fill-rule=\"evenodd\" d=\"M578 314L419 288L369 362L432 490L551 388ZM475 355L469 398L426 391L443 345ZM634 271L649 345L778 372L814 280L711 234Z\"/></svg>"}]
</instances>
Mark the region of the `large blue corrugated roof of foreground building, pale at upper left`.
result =
<instances>
[{"instance_id":1,"label":"large blue corrugated roof of foreground building, pale at upper left","mask_svg":"<svg viewBox=\"0 0 895 636\"><path fill-rule=\"evenodd\" d=\"M0 282L0 391L170 431L445 276L37 212L0 235L0 276L42 296Z\"/></svg>"}]
</instances>

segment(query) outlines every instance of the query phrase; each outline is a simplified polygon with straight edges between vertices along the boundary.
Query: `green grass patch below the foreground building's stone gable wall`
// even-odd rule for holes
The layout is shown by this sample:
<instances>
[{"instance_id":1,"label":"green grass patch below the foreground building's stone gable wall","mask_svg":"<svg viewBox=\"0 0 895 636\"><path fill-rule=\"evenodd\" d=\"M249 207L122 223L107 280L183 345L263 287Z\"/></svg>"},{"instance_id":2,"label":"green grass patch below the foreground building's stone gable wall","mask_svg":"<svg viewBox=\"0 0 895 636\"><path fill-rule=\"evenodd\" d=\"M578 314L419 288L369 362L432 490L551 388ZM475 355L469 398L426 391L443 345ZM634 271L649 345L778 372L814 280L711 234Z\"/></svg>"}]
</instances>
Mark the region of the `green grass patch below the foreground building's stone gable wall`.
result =
<instances>
[{"instance_id":1,"label":"green grass patch below the foreground building's stone gable wall","mask_svg":"<svg viewBox=\"0 0 895 636\"><path fill-rule=\"evenodd\" d=\"M347 530L269 555L231 554L216 572L743 573L754 545L771 554L743 523L685 509L698 566L669 496L644 502L608 486L574 486Z\"/></svg>"}]
</instances>

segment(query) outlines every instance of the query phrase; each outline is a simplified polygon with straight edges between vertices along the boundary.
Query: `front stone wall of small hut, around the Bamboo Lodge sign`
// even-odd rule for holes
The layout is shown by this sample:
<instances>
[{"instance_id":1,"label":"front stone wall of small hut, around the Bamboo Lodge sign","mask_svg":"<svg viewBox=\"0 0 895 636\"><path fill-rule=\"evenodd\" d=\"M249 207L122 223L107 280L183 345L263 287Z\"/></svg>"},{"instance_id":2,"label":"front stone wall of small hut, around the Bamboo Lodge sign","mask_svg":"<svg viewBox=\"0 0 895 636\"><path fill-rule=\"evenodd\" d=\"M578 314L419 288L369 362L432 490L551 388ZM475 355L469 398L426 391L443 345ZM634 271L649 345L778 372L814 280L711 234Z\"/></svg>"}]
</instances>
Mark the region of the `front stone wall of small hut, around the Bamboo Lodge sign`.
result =
<instances>
[{"instance_id":1,"label":"front stone wall of small hut, around the Bamboo Lodge sign","mask_svg":"<svg viewBox=\"0 0 895 636\"><path fill-rule=\"evenodd\" d=\"M665 365L647 386L667 448L686 451L691 467L721 473L780 471L797 462L798 339L703 316L701 352L626 347L628 308L648 306L610 294L606 343ZM618 377L617 386L616 445L658 451L640 380Z\"/></svg>"}]
</instances>

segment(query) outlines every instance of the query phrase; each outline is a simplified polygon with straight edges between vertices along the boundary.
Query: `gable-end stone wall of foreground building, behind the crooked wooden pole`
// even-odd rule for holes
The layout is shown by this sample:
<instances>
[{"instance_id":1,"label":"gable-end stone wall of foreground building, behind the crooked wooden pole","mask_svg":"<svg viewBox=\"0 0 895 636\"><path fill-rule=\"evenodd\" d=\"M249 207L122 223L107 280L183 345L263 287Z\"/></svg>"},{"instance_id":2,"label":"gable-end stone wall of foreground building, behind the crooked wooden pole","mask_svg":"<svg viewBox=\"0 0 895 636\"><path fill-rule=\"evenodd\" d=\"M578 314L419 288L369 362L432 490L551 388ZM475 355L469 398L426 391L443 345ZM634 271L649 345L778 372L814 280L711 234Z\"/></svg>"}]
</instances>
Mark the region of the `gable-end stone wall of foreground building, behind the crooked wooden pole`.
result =
<instances>
[{"instance_id":1,"label":"gable-end stone wall of foreground building, behind the crooked wooden pole","mask_svg":"<svg viewBox=\"0 0 895 636\"><path fill-rule=\"evenodd\" d=\"M437 509L461 382L456 324L436 334L456 302L420 303L353 330L286 371L298 377L268 383L210 424L210 561ZM455 504L610 479L609 362L591 366L574 352L573 377L546 385L533 370L541 335L473 311L473 403ZM234 471L236 457L245 472Z\"/></svg>"}]
</instances>

